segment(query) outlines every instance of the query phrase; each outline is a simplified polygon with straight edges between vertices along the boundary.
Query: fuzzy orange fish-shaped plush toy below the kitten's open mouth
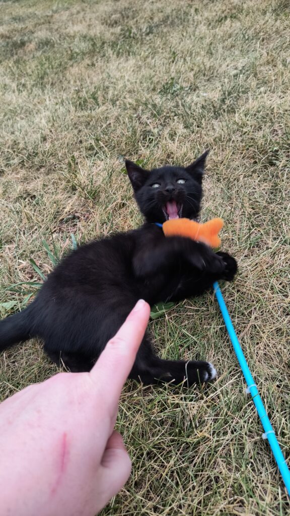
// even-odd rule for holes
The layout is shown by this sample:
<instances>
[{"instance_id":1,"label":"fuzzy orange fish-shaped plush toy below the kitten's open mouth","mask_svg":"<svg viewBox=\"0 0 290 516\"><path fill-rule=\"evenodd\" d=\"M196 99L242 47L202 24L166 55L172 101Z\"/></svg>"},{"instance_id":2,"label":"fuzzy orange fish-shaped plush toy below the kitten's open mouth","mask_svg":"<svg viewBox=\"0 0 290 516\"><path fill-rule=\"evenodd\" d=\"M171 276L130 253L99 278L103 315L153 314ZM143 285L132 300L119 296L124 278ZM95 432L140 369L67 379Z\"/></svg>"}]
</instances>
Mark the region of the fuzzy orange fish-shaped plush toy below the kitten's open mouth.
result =
<instances>
[{"instance_id":1,"label":"fuzzy orange fish-shaped plush toy below the kitten's open mouth","mask_svg":"<svg viewBox=\"0 0 290 516\"><path fill-rule=\"evenodd\" d=\"M208 220L204 224L200 224L190 219L170 219L163 223L162 229L165 236L186 236L203 242L213 248L220 247L219 231L223 227L222 219Z\"/></svg>"}]
</instances>

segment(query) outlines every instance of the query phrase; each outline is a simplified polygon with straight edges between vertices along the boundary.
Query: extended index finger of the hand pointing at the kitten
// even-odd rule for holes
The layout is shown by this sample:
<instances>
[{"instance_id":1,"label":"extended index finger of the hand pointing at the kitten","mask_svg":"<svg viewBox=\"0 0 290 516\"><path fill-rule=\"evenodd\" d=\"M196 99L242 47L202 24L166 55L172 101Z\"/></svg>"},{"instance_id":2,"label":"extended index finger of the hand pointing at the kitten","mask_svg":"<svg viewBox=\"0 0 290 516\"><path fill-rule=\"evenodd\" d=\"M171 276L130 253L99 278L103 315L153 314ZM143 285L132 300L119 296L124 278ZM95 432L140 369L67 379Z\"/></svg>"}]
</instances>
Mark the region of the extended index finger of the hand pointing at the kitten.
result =
<instances>
[{"instance_id":1,"label":"extended index finger of the hand pointing at the kitten","mask_svg":"<svg viewBox=\"0 0 290 516\"><path fill-rule=\"evenodd\" d=\"M92 368L92 380L105 385L104 396L111 404L119 400L122 387L135 362L150 316L150 306L140 299L120 330L107 343Z\"/></svg>"}]
</instances>

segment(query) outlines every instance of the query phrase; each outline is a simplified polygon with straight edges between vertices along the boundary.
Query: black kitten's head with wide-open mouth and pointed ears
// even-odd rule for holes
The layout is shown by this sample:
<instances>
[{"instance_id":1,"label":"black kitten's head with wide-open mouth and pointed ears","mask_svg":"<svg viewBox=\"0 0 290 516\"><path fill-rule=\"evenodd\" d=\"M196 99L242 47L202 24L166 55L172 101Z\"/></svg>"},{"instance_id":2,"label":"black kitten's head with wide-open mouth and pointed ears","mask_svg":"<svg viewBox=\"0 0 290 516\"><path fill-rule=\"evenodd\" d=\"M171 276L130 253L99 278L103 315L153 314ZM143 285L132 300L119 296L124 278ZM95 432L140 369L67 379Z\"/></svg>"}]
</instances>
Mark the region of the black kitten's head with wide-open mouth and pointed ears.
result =
<instances>
[{"instance_id":1,"label":"black kitten's head with wide-open mouth and pointed ears","mask_svg":"<svg viewBox=\"0 0 290 516\"><path fill-rule=\"evenodd\" d=\"M126 160L126 169L141 213L148 222L186 217L196 219L202 197L202 176L208 151L188 167L145 170Z\"/></svg>"}]
</instances>

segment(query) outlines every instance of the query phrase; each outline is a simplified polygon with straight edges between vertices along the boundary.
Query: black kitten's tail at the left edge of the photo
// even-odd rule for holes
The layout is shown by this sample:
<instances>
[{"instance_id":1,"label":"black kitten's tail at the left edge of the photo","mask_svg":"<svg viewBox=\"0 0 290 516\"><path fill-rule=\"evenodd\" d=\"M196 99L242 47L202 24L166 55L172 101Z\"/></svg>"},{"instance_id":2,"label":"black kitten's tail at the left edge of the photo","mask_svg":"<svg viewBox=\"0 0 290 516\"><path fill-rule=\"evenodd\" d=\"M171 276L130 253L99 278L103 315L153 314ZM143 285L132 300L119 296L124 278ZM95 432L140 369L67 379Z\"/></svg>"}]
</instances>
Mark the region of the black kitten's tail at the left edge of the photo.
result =
<instances>
[{"instance_id":1,"label":"black kitten's tail at the left edge of the photo","mask_svg":"<svg viewBox=\"0 0 290 516\"><path fill-rule=\"evenodd\" d=\"M25 310L0 321L0 351L33 337L33 303Z\"/></svg>"}]
</instances>

